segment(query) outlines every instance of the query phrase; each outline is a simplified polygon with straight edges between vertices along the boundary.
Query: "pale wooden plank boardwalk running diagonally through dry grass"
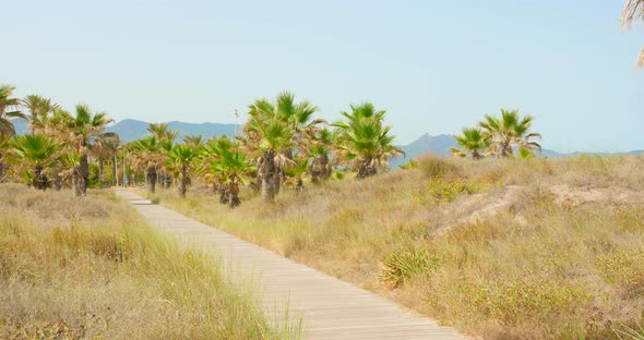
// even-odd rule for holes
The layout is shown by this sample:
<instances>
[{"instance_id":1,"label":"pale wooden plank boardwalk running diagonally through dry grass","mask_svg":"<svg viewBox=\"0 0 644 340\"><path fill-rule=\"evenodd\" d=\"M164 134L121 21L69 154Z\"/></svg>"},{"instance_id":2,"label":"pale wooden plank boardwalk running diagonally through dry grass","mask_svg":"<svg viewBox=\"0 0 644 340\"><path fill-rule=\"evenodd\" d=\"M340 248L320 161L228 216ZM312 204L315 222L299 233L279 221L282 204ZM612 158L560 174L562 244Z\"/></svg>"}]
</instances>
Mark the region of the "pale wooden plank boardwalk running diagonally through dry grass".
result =
<instances>
[{"instance_id":1,"label":"pale wooden plank boardwalk running diagonally through dry grass","mask_svg":"<svg viewBox=\"0 0 644 340\"><path fill-rule=\"evenodd\" d=\"M177 236L180 245L222 256L228 267L226 272L239 280L254 277L260 284L257 291L264 312L274 315L287 303L290 315L301 316L307 339L463 339L450 328L405 312L384 298L154 205L131 192L117 190L116 193L130 201L152 226Z\"/></svg>"}]
</instances>

